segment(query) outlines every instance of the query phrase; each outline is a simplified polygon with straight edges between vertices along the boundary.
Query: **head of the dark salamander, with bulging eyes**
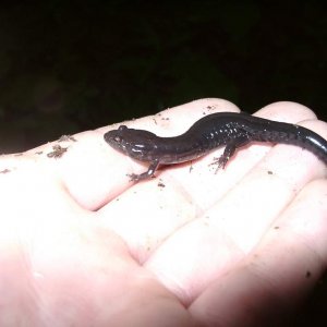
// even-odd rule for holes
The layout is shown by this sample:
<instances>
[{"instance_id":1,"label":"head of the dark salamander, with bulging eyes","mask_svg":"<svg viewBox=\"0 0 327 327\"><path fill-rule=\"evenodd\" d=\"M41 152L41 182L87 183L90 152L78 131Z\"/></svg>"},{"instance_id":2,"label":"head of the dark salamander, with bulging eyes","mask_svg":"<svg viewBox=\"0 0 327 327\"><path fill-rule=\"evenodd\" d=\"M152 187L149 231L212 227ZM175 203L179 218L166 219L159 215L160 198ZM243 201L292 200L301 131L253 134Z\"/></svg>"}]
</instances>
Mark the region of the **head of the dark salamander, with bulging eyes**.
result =
<instances>
[{"instance_id":1,"label":"head of the dark salamander, with bulging eyes","mask_svg":"<svg viewBox=\"0 0 327 327\"><path fill-rule=\"evenodd\" d=\"M150 161L152 154L157 148L157 135L148 131L129 129L125 125L107 132L104 137L114 149L143 161Z\"/></svg>"}]
</instances>

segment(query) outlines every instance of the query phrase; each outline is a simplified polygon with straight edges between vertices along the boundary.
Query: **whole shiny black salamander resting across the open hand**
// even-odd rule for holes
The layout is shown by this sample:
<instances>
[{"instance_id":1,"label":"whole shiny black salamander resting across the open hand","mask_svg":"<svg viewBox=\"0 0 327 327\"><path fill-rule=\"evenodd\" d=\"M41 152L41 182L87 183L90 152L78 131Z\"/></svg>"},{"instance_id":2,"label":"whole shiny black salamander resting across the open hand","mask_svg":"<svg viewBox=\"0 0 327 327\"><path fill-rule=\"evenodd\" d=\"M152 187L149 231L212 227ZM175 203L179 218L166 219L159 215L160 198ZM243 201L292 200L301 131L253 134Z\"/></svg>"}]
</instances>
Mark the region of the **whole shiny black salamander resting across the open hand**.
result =
<instances>
[{"instance_id":1,"label":"whole shiny black salamander resting across the open hand","mask_svg":"<svg viewBox=\"0 0 327 327\"><path fill-rule=\"evenodd\" d=\"M284 122L271 121L241 112L217 112L196 121L185 133L160 137L143 130L120 125L105 134L114 149L141 161L150 162L147 171L131 174L140 181L154 177L159 165L185 162L226 145L218 159L225 167L237 148L251 142L272 142L301 146L327 165L327 141L311 130Z\"/></svg>"}]
</instances>

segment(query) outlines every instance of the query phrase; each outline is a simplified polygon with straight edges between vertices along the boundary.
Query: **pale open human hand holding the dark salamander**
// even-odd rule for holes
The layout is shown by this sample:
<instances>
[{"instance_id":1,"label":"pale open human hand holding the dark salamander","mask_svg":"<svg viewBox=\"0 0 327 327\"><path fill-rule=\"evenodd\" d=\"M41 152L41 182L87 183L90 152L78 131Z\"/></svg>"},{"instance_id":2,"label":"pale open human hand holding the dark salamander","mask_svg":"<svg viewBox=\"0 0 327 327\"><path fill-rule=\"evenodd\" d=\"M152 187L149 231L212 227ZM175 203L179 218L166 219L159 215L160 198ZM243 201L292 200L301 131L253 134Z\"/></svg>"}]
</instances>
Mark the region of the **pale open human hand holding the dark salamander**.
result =
<instances>
[{"instance_id":1,"label":"pale open human hand holding the dark salamander","mask_svg":"<svg viewBox=\"0 0 327 327\"><path fill-rule=\"evenodd\" d=\"M203 99L124 124L172 136L204 113L238 110ZM327 138L301 105L256 114ZM255 144L217 173L222 149L132 183L126 173L147 165L105 143L111 128L0 158L0 325L274 326L291 316L326 269L325 165L301 147ZM68 149L49 158L56 144Z\"/></svg>"}]
</instances>

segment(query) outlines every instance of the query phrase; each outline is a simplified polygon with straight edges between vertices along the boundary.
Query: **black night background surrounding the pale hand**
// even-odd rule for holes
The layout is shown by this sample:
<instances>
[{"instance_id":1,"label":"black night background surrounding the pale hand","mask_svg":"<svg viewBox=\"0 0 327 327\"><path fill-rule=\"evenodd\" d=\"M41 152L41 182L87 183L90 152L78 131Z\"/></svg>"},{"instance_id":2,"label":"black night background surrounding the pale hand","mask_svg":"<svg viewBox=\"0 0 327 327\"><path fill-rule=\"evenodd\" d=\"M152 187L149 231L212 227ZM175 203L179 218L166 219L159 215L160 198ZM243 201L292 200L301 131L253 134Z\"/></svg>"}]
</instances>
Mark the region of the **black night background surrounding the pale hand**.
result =
<instances>
[{"instance_id":1,"label":"black night background surrounding the pale hand","mask_svg":"<svg viewBox=\"0 0 327 327\"><path fill-rule=\"evenodd\" d=\"M2 1L0 153L202 97L249 112L292 100L327 120L323 3ZM324 289L294 326L327 325Z\"/></svg>"}]
</instances>

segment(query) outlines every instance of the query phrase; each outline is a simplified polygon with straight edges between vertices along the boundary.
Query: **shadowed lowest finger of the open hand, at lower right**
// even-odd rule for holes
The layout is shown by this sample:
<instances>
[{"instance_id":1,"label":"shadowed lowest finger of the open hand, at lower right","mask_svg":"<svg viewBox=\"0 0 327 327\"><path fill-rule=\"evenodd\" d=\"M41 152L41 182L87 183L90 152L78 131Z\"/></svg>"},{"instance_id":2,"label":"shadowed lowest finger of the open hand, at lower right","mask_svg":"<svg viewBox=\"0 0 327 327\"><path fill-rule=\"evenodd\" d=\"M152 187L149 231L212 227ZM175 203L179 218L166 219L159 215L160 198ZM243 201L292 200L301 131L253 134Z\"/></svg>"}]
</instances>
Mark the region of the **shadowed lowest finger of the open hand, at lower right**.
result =
<instances>
[{"instance_id":1,"label":"shadowed lowest finger of the open hand, at lower right","mask_svg":"<svg viewBox=\"0 0 327 327\"><path fill-rule=\"evenodd\" d=\"M191 313L208 325L280 324L326 269L326 180L303 189L252 255L208 286Z\"/></svg>"}]
</instances>

